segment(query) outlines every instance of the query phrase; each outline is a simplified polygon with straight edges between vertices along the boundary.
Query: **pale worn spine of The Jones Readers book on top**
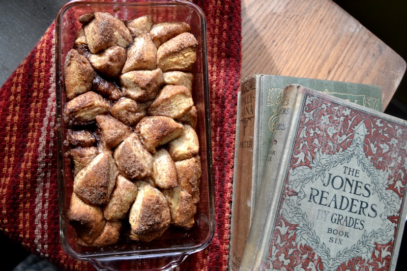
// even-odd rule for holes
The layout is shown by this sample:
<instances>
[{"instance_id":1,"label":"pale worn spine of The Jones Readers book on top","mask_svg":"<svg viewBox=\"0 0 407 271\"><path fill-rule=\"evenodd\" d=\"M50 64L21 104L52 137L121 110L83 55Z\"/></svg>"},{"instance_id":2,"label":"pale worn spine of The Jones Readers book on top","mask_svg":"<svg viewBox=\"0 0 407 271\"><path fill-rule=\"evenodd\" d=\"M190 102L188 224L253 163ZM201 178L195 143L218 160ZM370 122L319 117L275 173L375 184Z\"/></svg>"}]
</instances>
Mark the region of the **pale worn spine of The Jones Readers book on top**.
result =
<instances>
[{"instance_id":1,"label":"pale worn spine of The Jones Readers book on top","mask_svg":"<svg viewBox=\"0 0 407 271\"><path fill-rule=\"evenodd\" d=\"M275 212L278 209L279 194L282 191L286 170L284 165L288 164L286 161L289 159L287 150L290 149L296 134L296 126L293 124L298 122L299 118L296 110L302 100L298 92L299 87L299 85L290 85L283 89L279 115L240 270L261 269L269 251Z\"/></svg>"}]
</instances>

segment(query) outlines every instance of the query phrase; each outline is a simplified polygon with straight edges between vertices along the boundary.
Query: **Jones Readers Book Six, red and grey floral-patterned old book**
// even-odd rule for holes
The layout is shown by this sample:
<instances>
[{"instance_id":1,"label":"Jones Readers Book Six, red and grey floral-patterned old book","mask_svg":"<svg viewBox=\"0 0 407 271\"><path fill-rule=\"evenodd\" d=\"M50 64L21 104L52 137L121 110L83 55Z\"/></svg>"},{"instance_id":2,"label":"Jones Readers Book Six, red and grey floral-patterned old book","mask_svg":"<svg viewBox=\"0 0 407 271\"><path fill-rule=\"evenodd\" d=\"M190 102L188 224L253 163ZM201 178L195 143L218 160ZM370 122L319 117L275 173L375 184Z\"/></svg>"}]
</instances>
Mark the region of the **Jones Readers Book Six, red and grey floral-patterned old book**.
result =
<instances>
[{"instance_id":1,"label":"Jones Readers Book Six, red and grey floral-patterned old book","mask_svg":"<svg viewBox=\"0 0 407 271\"><path fill-rule=\"evenodd\" d=\"M407 122L289 85L242 270L394 270Z\"/></svg>"}]
</instances>

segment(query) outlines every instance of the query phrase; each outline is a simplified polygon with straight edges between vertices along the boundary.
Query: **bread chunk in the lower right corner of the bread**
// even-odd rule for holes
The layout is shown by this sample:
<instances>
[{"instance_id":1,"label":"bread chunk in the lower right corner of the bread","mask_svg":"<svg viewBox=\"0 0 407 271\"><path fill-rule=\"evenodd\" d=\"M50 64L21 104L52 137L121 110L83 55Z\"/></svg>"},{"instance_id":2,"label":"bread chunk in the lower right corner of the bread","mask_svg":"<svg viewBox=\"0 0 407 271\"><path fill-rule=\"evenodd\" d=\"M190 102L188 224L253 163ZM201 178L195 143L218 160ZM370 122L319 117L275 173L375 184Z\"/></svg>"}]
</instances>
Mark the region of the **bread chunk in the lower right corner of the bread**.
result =
<instances>
[{"instance_id":1,"label":"bread chunk in the lower right corner of the bread","mask_svg":"<svg viewBox=\"0 0 407 271\"><path fill-rule=\"evenodd\" d=\"M171 224L178 227L186 227L191 218L196 214L196 206L191 194L181 189L181 187L173 187L163 190L165 199L171 213Z\"/></svg>"}]
</instances>

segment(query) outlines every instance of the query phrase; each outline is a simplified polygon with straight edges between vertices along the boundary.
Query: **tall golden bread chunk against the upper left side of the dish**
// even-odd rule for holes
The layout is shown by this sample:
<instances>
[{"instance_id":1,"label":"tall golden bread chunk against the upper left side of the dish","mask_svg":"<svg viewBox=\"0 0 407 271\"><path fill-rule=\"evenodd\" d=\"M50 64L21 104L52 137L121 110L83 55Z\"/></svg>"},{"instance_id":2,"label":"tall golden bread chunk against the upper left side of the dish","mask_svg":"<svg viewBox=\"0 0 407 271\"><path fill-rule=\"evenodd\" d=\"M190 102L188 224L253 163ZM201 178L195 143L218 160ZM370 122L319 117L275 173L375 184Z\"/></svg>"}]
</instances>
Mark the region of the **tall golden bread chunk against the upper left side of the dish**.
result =
<instances>
[{"instance_id":1,"label":"tall golden bread chunk against the upper left side of the dish","mask_svg":"<svg viewBox=\"0 0 407 271\"><path fill-rule=\"evenodd\" d=\"M92 88L94 72L88 59L71 49L64 63L65 91L68 100Z\"/></svg>"}]
</instances>

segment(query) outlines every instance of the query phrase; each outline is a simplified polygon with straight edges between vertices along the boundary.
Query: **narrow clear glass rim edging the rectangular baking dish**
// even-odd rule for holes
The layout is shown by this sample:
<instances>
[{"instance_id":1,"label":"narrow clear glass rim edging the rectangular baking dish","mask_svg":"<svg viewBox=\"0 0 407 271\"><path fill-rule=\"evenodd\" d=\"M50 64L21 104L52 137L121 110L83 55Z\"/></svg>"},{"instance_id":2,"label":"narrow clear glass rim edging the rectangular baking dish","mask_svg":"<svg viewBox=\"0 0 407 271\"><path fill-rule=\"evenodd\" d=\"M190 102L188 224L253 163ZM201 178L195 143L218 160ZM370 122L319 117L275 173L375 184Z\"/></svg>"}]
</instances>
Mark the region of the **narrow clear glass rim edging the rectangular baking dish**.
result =
<instances>
[{"instance_id":1,"label":"narrow clear glass rim edging the rectangular baking dish","mask_svg":"<svg viewBox=\"0 0 407 271\"><path fill-rule=\"evenodd\" d=\"M170 7L170 6L188 6L192 8L200 17L201 23L201 37L202 38L202 80L203 80L203 96L204 96L204 111L205 111L205 133L206 133L206 155L207 155L207 167L208 167L208 196L209 196L209 235L206 240L201 243L192 246L185 247L175 247L175 248L163 248L163 249L146 249L146 250L129 250L120 252L106 252L101 251L95 253L77 253L72 249L68 243L67 225L64 221L67 215L67 206L65 204L65 185L64 185L64 172L63 172L63 137L62 137L62 127L63 127L63 108L62 108L62 91L63 91L63 80L62 80L62 70L61 70L61 36L62 36L62 18L66 11L72 7L78 6L160 6L160 7ZM97 2L97 1L72 1L65 4L56 15L55 19L55 102L56 102L56 119L57 119L57 181L58 181L58 194L59 194L59 212L60 212L60 239L61 245L66 253L71 257L79 260L91 260L91 259L129 259L132 257L140 258L140 256L152 257L152 256L165 256L179 254L179 258L182 262L186 256L205 249L209 246L214 238L215 234L215 208L214 208L214 184L213 184L213 170L212 170L212 141L211 141L211 121L210 121L210 101L209 101L209 79L208 79L208 52L207 52L207 27L206 18L202 10L195 4L185 0L169 0L169 1L153 1L153 2Z\"/></svg>"}]
</instances>

